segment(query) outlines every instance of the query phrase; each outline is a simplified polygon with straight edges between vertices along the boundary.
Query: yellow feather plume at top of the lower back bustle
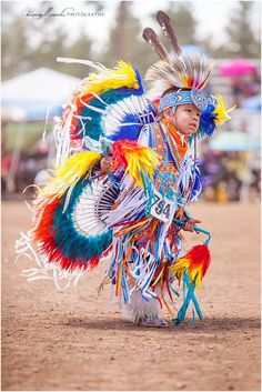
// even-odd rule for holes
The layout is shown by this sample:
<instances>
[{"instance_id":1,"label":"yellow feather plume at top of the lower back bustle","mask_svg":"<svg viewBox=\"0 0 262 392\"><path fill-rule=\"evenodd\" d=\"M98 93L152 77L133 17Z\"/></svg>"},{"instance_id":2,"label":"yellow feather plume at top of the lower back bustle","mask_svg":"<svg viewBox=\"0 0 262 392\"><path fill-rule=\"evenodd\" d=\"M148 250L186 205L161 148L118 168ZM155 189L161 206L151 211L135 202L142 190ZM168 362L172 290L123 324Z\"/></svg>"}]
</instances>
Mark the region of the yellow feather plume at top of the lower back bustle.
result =
<instances>
[{"instance_id":1,"label":"yellow feather plume at top of the lower back bustle","mask_svg":"<svg viewBox=\"0 0 262 392\"><path fill-rule=\"evenodd\" d=\"M62 167L54 169L54 177L40 193L44 197L62 195L68 188L74 187L81 177L85 174L88 178L90 170L100 159L101 154L93 151L79 152L69 157Z\"/></svg>"}]
</instances>

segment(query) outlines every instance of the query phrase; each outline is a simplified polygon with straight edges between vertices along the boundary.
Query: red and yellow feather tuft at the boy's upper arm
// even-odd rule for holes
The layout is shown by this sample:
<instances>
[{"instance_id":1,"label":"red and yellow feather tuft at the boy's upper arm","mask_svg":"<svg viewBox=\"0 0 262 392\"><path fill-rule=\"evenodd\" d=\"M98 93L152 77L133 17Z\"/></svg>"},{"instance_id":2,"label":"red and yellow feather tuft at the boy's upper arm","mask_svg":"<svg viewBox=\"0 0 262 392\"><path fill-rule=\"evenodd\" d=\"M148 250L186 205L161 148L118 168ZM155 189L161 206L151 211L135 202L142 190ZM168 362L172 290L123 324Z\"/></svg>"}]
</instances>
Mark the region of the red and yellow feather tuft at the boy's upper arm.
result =
<instances>
[{"instance_id":1,"label":"red and yellow feather tuft at the boy's upper arm","mask_svg":"<svg viewBox=\"0 0 262 392\"><path fill-rule=\"evenodd\" d=\"M154 169L160 162L152 148L139 145L138 142L121 140L113 143L114 167L124 167L125 172L133 178L135 185L144 185L144 177L153 179Z\"/></svg>"}]
</instances>

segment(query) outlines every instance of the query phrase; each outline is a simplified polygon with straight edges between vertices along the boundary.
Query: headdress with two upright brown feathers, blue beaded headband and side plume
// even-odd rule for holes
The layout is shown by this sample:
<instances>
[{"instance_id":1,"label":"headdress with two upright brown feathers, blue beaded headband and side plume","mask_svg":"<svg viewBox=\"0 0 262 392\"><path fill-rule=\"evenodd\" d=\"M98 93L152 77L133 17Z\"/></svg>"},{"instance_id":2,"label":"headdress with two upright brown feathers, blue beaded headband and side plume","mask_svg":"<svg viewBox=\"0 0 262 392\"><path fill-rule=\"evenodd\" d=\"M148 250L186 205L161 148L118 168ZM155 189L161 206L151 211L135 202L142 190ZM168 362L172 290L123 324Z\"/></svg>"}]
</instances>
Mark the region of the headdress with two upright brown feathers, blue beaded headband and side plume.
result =
<instances>
[{"instance_id":1,"label":"headdress with two upright brown feathers, blue beaded headband and side plume","mask_svg":"<svg viewBox=\"0 0 262 392\"><path fill-rule=\"evenodd\" d=\"M151 82L151 92L162 97L159 111L178 104L193 103L202 111L199 134L211 135L216 124L230 119L228 112L232 110L226 110L221 96L208 97L201 91L209 81L212 60L201 54L184 57L169 16L158 11L157 20L173 49L173 52L169 53L153 29L143 30L143 39L161 59L151 66L145 74L145 80ZM171 93L164 94L167 90L171 90Z\"/></svg>"}]
</instances>

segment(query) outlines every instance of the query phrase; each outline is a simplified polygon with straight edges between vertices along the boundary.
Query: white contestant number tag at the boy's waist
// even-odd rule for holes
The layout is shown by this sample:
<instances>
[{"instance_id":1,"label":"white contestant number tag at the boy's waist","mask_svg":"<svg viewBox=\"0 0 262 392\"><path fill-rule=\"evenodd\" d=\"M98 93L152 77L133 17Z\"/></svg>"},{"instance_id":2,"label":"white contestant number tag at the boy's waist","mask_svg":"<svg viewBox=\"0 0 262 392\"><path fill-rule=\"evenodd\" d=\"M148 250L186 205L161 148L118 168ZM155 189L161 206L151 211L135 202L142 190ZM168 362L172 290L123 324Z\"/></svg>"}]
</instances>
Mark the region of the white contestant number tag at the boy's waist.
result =
<instances>
[{"instance_id":1,"label":"white contestant number tag at the boy's waist","mask_svg":"<svg viewBox=\"0 0 262 392\"><path fill-rule=\"evenodd\" d=\"M173 215L175 202L173 200L164 198L157 189L153 191L154 201L151 205L151 215L158 218L162 222L168 222Z\"/></svg>"}]
</instances>

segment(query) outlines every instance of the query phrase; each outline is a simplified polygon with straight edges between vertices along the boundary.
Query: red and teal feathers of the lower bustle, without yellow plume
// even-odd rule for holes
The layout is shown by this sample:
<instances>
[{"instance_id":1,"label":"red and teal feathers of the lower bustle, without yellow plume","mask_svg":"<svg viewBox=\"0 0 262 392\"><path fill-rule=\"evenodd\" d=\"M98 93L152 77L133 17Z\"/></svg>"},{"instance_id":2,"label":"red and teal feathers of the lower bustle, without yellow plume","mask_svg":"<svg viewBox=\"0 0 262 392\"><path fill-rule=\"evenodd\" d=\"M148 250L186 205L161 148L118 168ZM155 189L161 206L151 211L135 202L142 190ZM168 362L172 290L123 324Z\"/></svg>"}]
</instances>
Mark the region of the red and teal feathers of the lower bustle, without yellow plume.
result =
<instances>
[{"instance_id":1,"label":"red and teal feathers of the lower bustle, without yellow plume","mask_svg":"<svg viewBox=\"0 0 262 392\"><path fill-rule=\"evenodd\" d=\"M49 262L58 263L63 270L89 270L99 263L99 260L110 249L112 241L111 230L104 230L100 235L84 235L75 227L75 205L89 185L88 180L81 180L74 185L70 194L67 212L63 197L57 197L49 203L40 203L37 214L37 224L32 235L39 244L41 253L48 255ZM39 218L39 220L38 220Z\"/></svg>"}]
</instances>

